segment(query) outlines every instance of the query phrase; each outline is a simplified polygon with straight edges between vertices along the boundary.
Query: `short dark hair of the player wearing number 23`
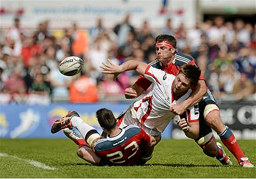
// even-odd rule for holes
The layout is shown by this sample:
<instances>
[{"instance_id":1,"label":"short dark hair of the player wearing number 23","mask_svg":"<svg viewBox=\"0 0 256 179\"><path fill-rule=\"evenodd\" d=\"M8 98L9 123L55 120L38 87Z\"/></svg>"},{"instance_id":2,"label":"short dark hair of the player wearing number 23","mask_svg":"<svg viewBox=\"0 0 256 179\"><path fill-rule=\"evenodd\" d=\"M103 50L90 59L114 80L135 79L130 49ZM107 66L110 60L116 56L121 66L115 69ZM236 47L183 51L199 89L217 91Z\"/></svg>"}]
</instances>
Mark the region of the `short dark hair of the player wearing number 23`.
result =
<instances>
[{"instance_id":1,"label":"short dark hair of the player wearing number 23","mask_svg":"<svg viewBox=\"0 0 256 179\"><path fill-rule=\"evenodd\" d=\"M98 119L100 126L106 130L110 131L117 125L117 120L114 117L113 112L106 108L101 108L96 111L96 118Z\"/></svg>"}]
</instances>

